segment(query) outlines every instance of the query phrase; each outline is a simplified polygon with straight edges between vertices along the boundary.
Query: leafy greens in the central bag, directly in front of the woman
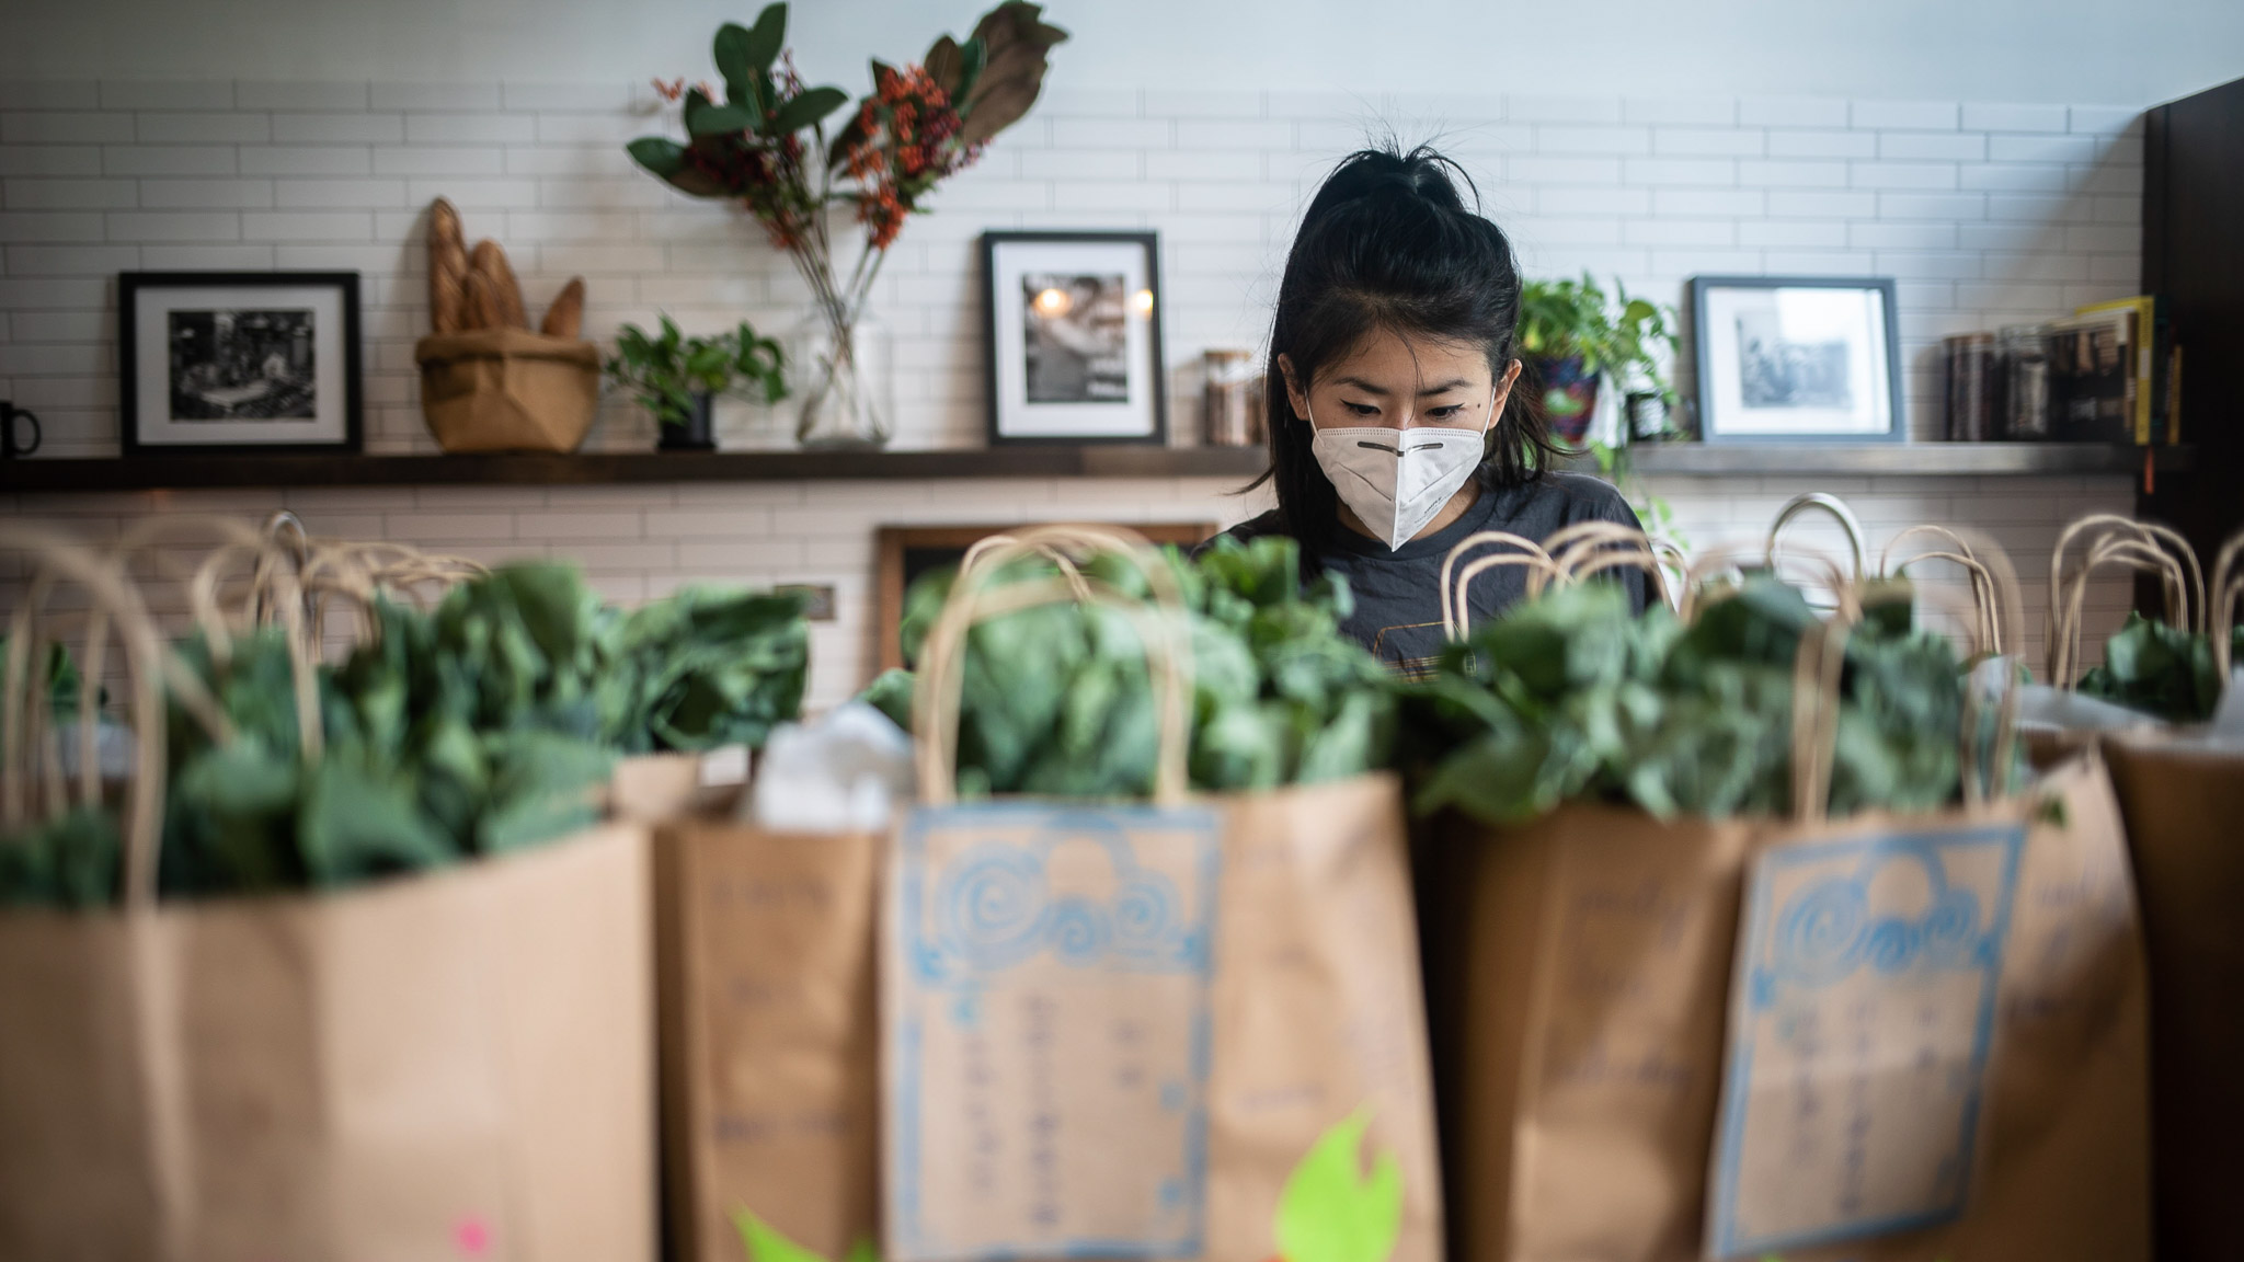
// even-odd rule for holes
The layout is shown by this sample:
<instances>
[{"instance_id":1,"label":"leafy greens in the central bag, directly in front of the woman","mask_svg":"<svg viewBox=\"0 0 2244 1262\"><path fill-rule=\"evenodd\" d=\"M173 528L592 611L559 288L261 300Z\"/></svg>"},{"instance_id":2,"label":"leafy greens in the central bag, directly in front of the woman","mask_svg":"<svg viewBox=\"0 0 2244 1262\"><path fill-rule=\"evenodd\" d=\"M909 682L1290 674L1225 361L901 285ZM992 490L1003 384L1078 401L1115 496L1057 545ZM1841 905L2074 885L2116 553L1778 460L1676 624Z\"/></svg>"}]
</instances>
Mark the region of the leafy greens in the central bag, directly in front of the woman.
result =
<instances>
[{"instance_id":1,"label":"leafy greens in the central bag, directly in front of the woman","mask_svg":"<svg viewBox=\"0 0 2244 1262\"><path fill-rule=\"evenodd\" d=\"M1299 582L1290 539L1218 539L1196 561L1165 552L1183 591L1192 647L1194 788L1313 784L1387 766L1394 692L1371 653L1340 633L1346 584ZM1055 575L1014 561L994 582ZM1095 555L1086 577L1156 609L1126 559ZM918 658L949 595L949 575L913 584L904 651ZM1144 797L1158 714L1138 624L1120 609L1048 604L990 618L967 635L960 683L958 790L1046 797ZM864 698L902 725L911 676L889 671Z\"/></svg>"}]
</instances>

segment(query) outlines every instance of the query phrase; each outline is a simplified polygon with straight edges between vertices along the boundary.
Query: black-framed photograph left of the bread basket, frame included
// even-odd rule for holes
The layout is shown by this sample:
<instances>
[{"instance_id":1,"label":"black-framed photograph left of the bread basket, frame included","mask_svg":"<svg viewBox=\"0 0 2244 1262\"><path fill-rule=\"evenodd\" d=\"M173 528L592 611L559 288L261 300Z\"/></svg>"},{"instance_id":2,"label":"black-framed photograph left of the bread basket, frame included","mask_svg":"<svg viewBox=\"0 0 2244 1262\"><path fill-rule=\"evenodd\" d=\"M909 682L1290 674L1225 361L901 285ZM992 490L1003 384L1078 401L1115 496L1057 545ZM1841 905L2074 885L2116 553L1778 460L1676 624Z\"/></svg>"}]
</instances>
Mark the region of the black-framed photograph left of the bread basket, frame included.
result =
<instances>
[{"instance_id":1,"label":"black-framed photograph left of the bread basket, frame included","mask_svg":"<svg viewBox=\"0 0 2244 1262\"><path fill-rule=\"evenodd\" d=\"M357 451L357 272L117 276L123 451Z\"/></svg>"}]
</instances>

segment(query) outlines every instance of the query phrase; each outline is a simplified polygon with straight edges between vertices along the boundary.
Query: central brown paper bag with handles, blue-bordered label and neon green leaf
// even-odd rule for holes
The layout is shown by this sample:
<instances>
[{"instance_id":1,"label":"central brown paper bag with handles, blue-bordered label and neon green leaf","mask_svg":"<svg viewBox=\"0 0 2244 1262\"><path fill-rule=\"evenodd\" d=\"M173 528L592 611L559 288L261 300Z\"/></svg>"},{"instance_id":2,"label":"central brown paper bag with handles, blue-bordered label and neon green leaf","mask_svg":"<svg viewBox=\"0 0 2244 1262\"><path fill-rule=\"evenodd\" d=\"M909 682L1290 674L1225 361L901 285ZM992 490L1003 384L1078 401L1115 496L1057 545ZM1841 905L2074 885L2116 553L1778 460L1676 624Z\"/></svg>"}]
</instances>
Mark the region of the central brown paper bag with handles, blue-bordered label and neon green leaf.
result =
<instances>
[{"instance_id":1,"label":"central brown paper bag with handles, blue-bordered label and neon green leaf","mask_svg":"<svg viewBox=\"0 0 2244 1262\"><path fill-rule=\"evenodd\" d=\"M951 804L967 629L1106 600L1070 566L1003 588L974 575L1086 543L1118 546L1028 532L983 555L922 653L927 806L902 829L882 921L889 1258L1261 1262L1279 1251L1302 1159L1364 1118L1373 1179L1400 1177L1391 1255L1434 1262L1441 1190L1394 777L1187 797L1183 647L1133 611L1162 714L1156 804Z\"/></svg>"}]
</instances>

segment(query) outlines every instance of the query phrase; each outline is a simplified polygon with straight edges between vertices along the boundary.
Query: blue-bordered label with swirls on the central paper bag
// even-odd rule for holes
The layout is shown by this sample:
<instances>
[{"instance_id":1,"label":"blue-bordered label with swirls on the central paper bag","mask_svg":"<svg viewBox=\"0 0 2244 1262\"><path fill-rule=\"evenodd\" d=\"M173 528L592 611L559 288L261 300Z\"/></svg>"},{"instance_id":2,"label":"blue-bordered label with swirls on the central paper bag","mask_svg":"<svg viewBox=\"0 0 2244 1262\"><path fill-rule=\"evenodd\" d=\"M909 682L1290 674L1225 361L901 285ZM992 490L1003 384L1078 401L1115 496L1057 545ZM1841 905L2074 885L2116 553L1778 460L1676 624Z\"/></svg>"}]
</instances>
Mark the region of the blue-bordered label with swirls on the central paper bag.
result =
<instances>
[{"instance_id":1,"label":"blue-bordered label with swirls on the central paper bag","mask_svg":"<svg viewBox=\"0 0 2244 1262\"><path fill-rule=\"evenodd\" d=\"M889 874L889 1258L1201 1251L1210 808L916 811Z\"/></svg>"}]
</instances>

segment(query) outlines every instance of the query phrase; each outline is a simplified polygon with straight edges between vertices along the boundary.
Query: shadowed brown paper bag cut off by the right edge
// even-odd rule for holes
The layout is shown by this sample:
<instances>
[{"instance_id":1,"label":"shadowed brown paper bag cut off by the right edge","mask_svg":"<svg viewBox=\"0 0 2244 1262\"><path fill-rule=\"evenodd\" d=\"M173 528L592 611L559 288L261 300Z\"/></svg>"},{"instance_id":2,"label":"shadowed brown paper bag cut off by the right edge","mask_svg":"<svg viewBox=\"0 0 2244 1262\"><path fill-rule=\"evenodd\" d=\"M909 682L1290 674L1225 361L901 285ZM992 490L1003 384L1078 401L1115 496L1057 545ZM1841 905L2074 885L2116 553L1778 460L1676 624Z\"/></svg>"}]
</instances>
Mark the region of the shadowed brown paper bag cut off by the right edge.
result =
<instances>
[{"instance_id":1,"label":"shadowed brown paper bag cut off by the right edge","mask_svg":"<svg viewBox=\"0 0 2244 1262\"><path fill-rule=\"evenodd\" d=\"M2244 1188L2244 750L2107 737L2150 950L2159 1258L2237 1251Z\"/></svg>"}]
</instances>

